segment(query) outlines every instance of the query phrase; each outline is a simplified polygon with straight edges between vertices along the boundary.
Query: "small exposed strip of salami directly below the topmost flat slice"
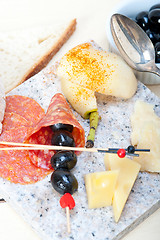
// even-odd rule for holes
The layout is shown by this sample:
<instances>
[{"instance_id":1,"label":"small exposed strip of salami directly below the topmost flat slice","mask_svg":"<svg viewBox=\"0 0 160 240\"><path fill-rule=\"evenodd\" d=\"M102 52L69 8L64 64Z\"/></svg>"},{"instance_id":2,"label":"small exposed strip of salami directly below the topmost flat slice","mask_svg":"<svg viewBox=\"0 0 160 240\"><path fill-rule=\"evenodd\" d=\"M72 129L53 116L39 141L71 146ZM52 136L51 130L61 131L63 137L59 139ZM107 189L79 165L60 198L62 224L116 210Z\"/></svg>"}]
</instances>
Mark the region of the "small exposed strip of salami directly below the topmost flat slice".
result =
<instances>
[{"instance_id":1,"label":"small exposed strip of salami directly below the topmost flat slice","mask_svg":"<svg viewBox=\"0 0 160 240\"><path fill-rule=\"evenodd\" d=\"M17 128L21 126L28 126L30 125L29 121L27 121L24 117L20 116L14 112L6 112L3 119L3 132L8 131L12 128Z\"/></svg>"}]
</instances>

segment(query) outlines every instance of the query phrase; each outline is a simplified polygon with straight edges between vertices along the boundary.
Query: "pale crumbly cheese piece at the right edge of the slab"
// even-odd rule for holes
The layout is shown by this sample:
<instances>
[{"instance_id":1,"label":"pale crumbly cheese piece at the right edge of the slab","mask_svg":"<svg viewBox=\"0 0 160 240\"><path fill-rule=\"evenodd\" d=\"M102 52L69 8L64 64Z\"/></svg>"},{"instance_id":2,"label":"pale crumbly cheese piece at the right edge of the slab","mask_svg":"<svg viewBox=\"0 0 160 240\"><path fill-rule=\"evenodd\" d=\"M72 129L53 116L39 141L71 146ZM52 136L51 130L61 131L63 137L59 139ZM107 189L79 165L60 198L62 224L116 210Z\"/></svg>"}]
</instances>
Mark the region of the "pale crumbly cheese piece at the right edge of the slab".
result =
<instances>
[{"instance_id":1,"label":"pale crumbly cheese piece at the right edge of the slab","mask_svg":"<svg viewBox=\"0 0 160 240\"><path fill-rule=\"evenodd\" d=\"M137 101L131 116L131 142L137 148L148 148L134 161L141 164L141 171L160 172L160 118L153 105Z\"/></svg>"}]
</instances>

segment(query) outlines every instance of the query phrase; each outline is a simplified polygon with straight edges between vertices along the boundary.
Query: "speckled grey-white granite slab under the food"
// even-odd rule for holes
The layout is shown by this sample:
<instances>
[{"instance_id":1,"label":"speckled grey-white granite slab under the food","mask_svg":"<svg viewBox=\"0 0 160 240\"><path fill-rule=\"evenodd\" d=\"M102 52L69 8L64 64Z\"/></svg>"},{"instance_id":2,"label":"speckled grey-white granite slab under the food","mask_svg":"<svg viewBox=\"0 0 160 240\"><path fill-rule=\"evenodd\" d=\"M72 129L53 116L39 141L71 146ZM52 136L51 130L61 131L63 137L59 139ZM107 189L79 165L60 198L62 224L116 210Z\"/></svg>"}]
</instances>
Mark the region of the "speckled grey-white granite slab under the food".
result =
<instances>
[{"instance_id":1,"label":"speckled grey-white granite slab under the food","mask_svg":"<svg viewBox=\"0 0 160 240\"><path fill-rule=\"evenodd\" d=\"M50 68L32 77L13 90L34 98L45 110L51 97L61 92L60 84ZM95 138L95 147L127 147L130 144L130 115L134 103L142 99L155 105L160 116L160 99L143 84L138 84L136 95L127 101L97 94L102 119ZM86 131L89 122L76 112L75 116ZM113 240L120 239L160 207L160 175L139 173L119 223L114 222L112 207L89 210L84 185L84 174L104 171L104 154L82 153L73 169L79 190L74 194L76 207L70 211L71 234L66 231L66 215L59 205L60 195L50 184L50 176L27 186L15 185L0 179L0 192L6 201L30 224L42 240Z\"/></svg>"}]
</instances>

